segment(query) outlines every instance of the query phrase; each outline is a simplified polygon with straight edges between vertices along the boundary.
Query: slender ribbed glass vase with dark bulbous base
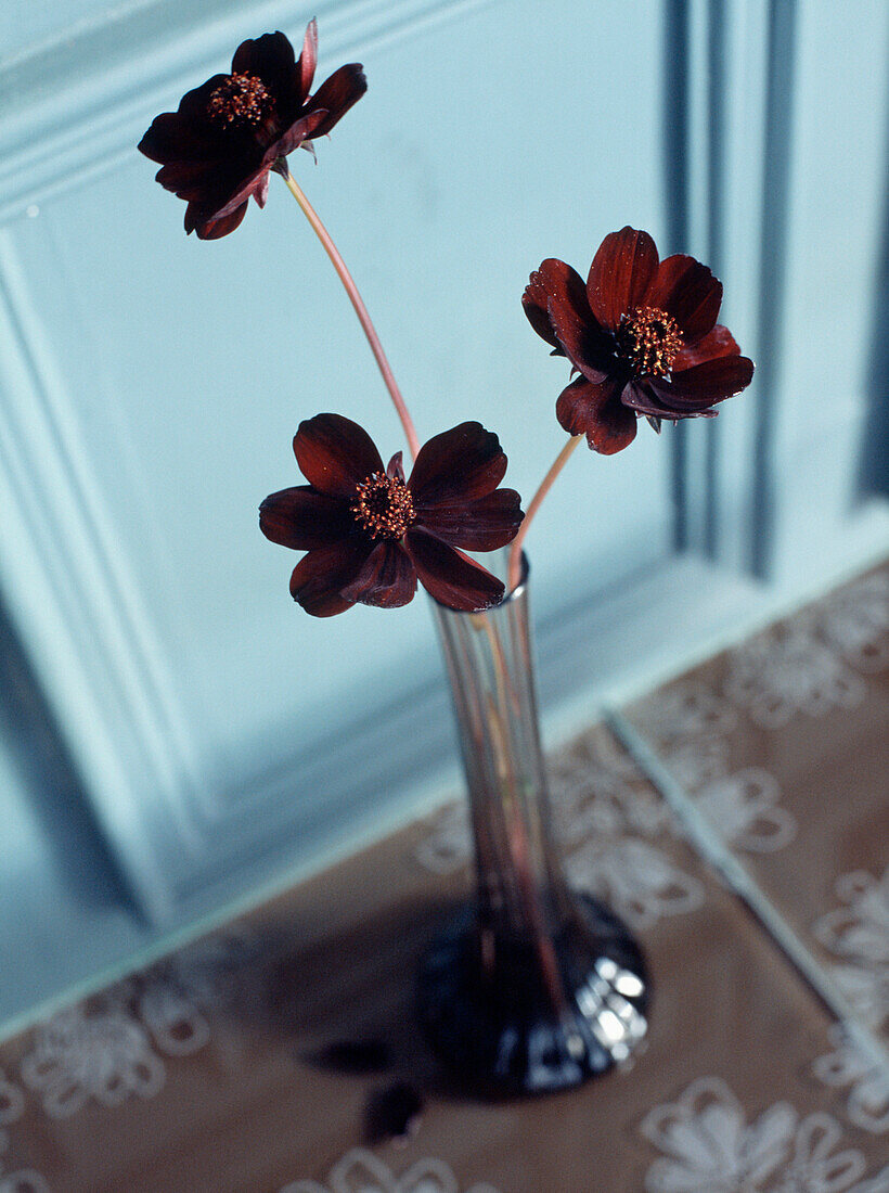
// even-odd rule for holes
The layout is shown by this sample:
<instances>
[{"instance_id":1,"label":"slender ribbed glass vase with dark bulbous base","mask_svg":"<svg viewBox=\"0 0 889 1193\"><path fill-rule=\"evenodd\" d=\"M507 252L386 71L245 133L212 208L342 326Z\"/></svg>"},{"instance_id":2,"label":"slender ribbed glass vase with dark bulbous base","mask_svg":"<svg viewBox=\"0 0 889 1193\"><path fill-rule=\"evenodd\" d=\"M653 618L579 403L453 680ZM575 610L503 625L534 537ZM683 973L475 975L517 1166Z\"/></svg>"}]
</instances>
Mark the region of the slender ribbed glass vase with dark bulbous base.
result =
<instances>
[{"instance_id":1,"label":"slender ribbed glass vase with dark bulbous base","mask_svg":"<svg viewBox=\"0 0 889 1193\"><path fill-rule=\"evenodd\" d=\"M523 563L520 585L487 613L436 606L476 892L421 963L419 1014L457 1078L494 1094L580 1084L626 1061L648 1026L638 945L569 890L552 839Z\"/></svg>"}]
</instances>

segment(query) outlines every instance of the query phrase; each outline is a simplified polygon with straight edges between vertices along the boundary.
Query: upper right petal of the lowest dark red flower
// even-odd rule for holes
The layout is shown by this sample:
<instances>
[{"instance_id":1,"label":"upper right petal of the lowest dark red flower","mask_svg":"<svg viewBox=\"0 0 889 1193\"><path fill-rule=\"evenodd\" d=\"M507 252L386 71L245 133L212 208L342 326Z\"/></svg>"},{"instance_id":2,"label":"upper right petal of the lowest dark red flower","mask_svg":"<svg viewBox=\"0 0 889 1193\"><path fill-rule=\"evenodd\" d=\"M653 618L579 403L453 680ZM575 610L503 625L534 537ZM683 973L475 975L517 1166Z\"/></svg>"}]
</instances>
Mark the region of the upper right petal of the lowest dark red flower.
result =
<instances>
[{"instance_id":1,"label":"upper right petal of the lowest dark red flower","mask_svg":"<svg viewBox=\"0 0 889 1193\"><path fill-rule=\"evenodd\" d=\"M473 501L492 493L506 472L506 456L493 431L461 422L428 439L407 482L414 508Z\"/></svg>"}]
</instances>

